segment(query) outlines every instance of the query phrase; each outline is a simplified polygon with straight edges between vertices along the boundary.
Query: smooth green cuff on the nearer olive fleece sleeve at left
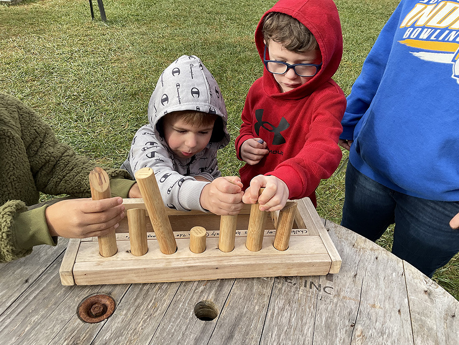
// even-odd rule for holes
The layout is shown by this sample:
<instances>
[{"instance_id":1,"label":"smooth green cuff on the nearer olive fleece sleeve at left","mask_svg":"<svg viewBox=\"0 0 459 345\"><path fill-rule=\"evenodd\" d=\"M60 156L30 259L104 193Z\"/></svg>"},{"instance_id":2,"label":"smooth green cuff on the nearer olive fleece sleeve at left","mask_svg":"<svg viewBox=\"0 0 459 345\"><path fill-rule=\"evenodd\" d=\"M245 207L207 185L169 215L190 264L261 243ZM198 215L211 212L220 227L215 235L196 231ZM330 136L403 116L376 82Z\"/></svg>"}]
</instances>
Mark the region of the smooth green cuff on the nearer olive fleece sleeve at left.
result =
<instances>
[{"instance_id":1,"label":"smooth green cuff on the nearer olive fleece sleeve at left","mask_svg":"<svg viewBox=\"0 0 459 345\"><path fill-rule=\"evenodd\" d=\"M16 214L14 217L14 240L18 248L31 249L39 244L58 244L58 237L51 237L46 223L47 205Z\"/></svg>"}]
</instances>

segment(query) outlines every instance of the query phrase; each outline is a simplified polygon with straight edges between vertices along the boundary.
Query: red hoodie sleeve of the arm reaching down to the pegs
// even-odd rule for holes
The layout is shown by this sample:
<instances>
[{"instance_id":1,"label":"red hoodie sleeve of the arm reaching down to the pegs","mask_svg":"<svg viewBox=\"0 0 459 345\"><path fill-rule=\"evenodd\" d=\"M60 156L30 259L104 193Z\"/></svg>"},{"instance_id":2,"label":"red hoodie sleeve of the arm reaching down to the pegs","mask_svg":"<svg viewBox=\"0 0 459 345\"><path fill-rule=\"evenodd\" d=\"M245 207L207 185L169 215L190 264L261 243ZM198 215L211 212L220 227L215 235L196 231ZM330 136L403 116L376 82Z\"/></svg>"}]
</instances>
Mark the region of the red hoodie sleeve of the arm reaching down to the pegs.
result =
<instances>
[{"instance_id":1,"label":"red hoodie sleeve of the arm reaching down to the pegs","mask_svg":"<svg viewBox=\"0 0 459 345\"><path fill-rule=\"evenodd\" d=\"M339 92L340 91L340 92ZM338 138L346 109L342 91L318 95L306 142L298 155L283 161L265 175L274 175L289 187L289 199L299 199L314 192L321 179L333 174L342 157Z\"/></svg>"}]
</instances>

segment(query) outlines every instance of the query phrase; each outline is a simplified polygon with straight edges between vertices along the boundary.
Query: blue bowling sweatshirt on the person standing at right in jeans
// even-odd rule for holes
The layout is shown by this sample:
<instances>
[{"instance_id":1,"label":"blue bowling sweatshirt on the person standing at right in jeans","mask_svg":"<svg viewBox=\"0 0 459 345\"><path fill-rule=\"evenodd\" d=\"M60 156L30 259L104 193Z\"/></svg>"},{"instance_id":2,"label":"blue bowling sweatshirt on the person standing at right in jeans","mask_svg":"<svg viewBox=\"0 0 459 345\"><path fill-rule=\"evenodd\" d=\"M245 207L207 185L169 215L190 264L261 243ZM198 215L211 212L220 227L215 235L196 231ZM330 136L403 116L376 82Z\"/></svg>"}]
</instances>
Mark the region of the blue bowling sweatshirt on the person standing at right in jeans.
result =
<instances>
[{"instance_id":1,"label":"blue bowling sweatshirt on the person standing at right in jeans","mask_svg":"<svg viewBox=\"0 0 459 345\"><path fill-rule=\"evenodd\" d=\"M348 96L341 139L361 173L459 201L459 1L402 0Z\"/></svg>"}]
</instances>

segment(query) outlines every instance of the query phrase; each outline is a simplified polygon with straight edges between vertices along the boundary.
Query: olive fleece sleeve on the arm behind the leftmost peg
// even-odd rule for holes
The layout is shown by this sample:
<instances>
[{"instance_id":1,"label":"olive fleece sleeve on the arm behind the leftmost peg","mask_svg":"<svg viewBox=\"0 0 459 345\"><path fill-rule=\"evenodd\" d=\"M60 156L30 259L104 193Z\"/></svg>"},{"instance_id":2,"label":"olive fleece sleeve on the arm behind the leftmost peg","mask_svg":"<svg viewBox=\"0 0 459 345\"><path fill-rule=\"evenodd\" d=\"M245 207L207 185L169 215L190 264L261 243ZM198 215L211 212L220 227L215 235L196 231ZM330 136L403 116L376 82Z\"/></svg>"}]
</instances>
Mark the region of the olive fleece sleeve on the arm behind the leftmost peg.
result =
<instances>
[{"instance_id":1,"label":"olive fleece sleeve on the arm behind the leftmost peg","mask_svg":"<svg viewBox=\"0 0 459 345\"><path fill-rule=\"evenodd\" d=\"M69 145L59 142L52 129L41 119L37 120L38 115L35 112L26 107L19 112L23 141L37 189L53 195L91 196L89 173L96 164L77 155ZM121 169L104 170L110 179L131 178L129 173ZM112 194L126 197L134 183L112 182Z\"/></svg>"}]
</instances>

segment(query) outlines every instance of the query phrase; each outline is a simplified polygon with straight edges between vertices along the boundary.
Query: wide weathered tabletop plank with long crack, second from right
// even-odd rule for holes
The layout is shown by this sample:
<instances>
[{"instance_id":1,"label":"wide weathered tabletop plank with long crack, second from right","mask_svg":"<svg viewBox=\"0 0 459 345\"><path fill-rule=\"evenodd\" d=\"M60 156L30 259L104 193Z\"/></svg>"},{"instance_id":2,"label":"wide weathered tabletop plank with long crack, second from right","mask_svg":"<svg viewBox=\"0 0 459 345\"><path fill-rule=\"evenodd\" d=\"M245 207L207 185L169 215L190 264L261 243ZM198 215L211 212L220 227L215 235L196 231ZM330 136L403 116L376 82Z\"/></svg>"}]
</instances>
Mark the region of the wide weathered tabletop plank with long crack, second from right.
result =
<instances>
[{"instance_id":1,"label":"wide weathered tabletop plank with long crack, second from right","mask_svg":"<svg viewBox=\"0 0 459 345\"><path fill-rule=\"evenodd\" d=\"M343 264L332 282L319 278L332 287L332 300L318 300L314 343L413 344L401 260L349 229L326 224Z\"/></svg>"}]
</instances>

